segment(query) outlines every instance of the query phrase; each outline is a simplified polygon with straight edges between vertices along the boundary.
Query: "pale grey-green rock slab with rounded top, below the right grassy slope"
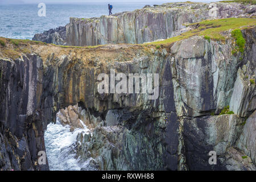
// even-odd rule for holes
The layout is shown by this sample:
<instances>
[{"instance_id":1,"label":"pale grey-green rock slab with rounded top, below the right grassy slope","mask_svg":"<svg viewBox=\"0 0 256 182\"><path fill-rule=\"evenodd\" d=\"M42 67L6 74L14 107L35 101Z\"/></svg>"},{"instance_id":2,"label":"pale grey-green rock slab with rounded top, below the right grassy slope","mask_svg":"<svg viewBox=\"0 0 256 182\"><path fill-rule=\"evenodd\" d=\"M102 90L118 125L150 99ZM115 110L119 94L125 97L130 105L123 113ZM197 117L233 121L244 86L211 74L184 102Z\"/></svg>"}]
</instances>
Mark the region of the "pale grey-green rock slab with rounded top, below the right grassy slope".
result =
<instances>
[{"instance_id":1,"label":"pale grey-green rock slab with rounded top, below the right grassy slope","mask_svg":"<svg viewBox=\"0 0 256 182\"><path fill-rule=\"evenodd\" d=\"M177 44L179 43L172 47L172 53L176 53L175 64L181 97L188 107L189 115L196 116L213 110L215 106L211 65L214 60L211 59L212 53L209 50L212 45L197 36Z\"/></svg>"}]
</instances>

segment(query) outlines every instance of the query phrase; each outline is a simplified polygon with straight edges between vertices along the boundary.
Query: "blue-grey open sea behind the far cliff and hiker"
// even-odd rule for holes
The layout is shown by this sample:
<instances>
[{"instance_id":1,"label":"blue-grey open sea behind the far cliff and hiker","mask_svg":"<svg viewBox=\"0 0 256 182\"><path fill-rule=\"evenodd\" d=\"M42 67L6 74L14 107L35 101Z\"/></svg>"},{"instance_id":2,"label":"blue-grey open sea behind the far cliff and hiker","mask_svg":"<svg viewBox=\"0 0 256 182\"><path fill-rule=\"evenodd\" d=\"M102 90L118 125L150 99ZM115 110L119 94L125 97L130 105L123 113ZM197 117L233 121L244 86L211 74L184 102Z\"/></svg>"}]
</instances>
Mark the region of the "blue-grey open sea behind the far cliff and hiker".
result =
<instances>
[{"instance_id":1,"label":"blue-grey open sea behind the far cliff and hiker","mask_svg":"<svg viewBox=\"0 0 256 182\"><path fill-rule=\"evenodd\" d=\"M162 5L170 1L113 3L112 13L142 9L144 5ZM208 2L208 1L202 1ZM0 6L0 36L11 39L30 39L35 34L51 28L65 26L70 17L93 18L108 15L108 3L46 3L46 16L38 16L36 3L8 4Z\"/></svg>"}]
</instances>

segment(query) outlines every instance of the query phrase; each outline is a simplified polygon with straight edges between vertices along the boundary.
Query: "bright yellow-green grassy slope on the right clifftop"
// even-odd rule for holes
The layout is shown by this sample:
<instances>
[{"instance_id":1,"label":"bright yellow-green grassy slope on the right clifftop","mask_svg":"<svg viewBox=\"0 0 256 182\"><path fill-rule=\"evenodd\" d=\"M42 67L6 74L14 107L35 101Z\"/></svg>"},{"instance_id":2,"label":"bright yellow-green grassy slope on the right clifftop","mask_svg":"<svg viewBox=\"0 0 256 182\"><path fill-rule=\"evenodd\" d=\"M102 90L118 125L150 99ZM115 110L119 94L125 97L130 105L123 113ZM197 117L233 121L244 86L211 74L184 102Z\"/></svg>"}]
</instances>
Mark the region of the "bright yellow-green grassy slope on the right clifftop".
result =
<instances>
[{"instance_id":1,"label":"bright yellow-green grassy slope on the right clifftop","mask_svg":"<svg viewBox=\"0 0 256 182\"><path fill-rule=\"evenodd\" d=\"M237 28L246 28L246 26L255 26L256 19L252 18L226 18L204 20L200 23L192 23L189 26L196 26L194 30L185 32L179 36L170 39L162 40L159 42L151 42L146 44L171 44L179 40L187 39L191 36L204 36L207 40L220 40L225 41L225 37L221 34L226 30L234 30Z\"/></svg>"}]
</instances>

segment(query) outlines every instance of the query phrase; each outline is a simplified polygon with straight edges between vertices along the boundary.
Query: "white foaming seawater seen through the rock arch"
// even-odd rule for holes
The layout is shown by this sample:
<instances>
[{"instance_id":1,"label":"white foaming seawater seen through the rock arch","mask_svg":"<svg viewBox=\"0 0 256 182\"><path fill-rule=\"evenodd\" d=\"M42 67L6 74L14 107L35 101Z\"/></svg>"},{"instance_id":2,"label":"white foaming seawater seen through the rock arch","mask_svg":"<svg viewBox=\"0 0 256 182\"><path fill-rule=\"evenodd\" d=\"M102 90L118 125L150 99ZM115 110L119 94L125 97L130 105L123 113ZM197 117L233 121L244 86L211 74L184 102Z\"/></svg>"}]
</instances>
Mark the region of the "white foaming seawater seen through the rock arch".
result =
<instances>
[{"instance_id":1,"label":"white foaming seawater seen through the rock arch","mask_svg":"<svg viewBox=\"0 0 256 182\"><path fill-rule=\"evenodd\" d=\"M81 122L84 129L70 132L70 126L62 126L58 121L50 123L44 135L46 154L51 171L77 171L88 166L89 160L81 162L76 159L75 143L79 133L89 133L89 129Z\"/></svg>"}]
</instances>

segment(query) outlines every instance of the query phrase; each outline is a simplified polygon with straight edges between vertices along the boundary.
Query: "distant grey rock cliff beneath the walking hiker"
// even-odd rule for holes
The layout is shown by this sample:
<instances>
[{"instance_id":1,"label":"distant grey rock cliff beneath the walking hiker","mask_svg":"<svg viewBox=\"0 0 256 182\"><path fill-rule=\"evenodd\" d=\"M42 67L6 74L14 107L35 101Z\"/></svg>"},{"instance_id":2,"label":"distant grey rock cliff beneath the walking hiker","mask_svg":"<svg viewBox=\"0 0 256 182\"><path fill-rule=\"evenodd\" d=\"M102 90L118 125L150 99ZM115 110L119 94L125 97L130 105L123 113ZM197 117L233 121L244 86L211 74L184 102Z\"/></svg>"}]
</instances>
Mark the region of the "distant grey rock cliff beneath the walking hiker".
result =
<instances>
[{"instance_id":1,"label":"distant grey rock cliff beneath the walking hiker","mask_svg":"<svg viewBox=\"0 0 256 182\"><path fill-rule=\"evenodd\" d=\"M36 34L33 40L69 46L140 44L180 35L189 30L186 27L188 23L205 19L253 17L256 15L255 7L221 2L145 6L141 10L111 16L102 15L100 18L70 18L67 26Z\"/></svg>"}]
</instances>

